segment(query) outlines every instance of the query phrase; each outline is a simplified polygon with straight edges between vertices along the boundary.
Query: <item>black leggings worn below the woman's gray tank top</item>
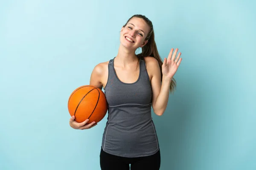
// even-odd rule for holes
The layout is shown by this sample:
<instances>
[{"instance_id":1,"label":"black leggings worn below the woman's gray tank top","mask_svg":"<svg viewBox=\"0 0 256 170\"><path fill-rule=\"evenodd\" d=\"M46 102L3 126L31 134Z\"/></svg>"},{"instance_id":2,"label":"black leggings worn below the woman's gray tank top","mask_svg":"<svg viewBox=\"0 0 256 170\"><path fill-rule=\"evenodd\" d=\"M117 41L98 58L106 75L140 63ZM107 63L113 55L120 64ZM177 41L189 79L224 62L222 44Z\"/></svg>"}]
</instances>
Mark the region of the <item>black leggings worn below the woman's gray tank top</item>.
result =
<instances>
[{"instance_id":1,"label":"black leggings worn below the woman's gray tank top","mask_svg":"<svg viewBox=\"0 0 256 170\"><path fill-rule=\"evenodd\" d=\"M111 155L100 151L100 167L102 170L159 170L160 169L160 150L151 156L143 156L138 158L125 158L121 156Z\"/></svg>"}]
</instances>

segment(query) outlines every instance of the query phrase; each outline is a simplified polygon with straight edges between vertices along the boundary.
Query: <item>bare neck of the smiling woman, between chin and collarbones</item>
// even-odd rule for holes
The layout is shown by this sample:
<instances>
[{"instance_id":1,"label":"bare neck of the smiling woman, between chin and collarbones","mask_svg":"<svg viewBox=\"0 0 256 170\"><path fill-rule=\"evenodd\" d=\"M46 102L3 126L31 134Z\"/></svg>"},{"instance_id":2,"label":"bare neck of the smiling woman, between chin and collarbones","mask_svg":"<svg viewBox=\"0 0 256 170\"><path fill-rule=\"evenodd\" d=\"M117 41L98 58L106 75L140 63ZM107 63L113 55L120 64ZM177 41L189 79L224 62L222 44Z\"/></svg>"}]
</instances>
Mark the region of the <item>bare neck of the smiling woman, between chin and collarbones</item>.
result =
<instances>
[{"instance_id":1,"label":"bare neck of the smiling woman, between chin and collarbones","mask_svg":"<svg viewBox=\"0 0 256 170\"><path fill-rule=\"evenodd\" d=\"M115 60L125 67L126 65L132 64L135 61L137 62L138 57L135 55L135 50L128 50L122 46L122 44L120 44Z\"/></svg>"}]
</instances>

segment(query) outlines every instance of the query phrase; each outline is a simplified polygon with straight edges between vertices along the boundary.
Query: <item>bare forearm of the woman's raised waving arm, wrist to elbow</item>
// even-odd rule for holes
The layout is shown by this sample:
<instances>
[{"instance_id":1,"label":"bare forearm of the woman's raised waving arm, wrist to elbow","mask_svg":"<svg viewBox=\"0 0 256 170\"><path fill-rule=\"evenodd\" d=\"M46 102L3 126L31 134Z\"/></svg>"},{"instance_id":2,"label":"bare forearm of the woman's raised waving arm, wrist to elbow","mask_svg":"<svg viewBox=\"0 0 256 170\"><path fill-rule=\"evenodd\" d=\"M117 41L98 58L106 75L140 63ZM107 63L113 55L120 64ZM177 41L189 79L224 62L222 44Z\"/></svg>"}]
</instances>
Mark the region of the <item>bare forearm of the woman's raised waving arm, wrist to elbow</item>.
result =
<instances>
[{"instance_id":1,"label":"bare forearm of the woman's raised waving arm, wrist to elbow","mask_svg":"<svg viewBox=\"0 0 256 170\"><path fill-rule=\"evenodd\" d=\"M169 91L170 91L170 84L172 79L166 79L163 76L162 85L159 95L157 96L156 102L154 103L154 113L158 116L161 116L164 111L166 110L168 99L169 99Z\"/></svg>"}]
</instances>

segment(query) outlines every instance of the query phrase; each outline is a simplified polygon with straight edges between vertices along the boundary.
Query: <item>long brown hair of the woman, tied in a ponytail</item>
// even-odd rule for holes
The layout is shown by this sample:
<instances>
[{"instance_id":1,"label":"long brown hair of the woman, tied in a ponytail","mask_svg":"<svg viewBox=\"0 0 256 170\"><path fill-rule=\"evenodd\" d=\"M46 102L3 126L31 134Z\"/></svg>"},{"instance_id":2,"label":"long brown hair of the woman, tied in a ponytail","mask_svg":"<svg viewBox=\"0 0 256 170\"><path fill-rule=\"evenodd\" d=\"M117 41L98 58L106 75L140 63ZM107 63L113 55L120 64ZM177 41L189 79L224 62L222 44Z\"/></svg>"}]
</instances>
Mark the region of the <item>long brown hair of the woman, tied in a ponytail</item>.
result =
<instances>
[{"instance_id":1,"label":"long brown hair of the woman, tied in a ponytail","mask_svg":"<svg viewBox=\"0 0 256 170\"><path fill-rule=\"evenodd\" d=\"M155 59L157 59L158 64L160 66L160 71L161 71L161 82L162 82L162 78L163 78L163 73L162 73L162 65L163 65L163 60L161 59L160 55L158 54L157 51L157 45L156 42L154 40L154 28L153 28L153 24L152 22L145 17L144 15L140 15L140 14L135 14L133 15L131 18L129 18L129 20L126 22L126 24L123 26L125 27L127 25L127 23L133 18L133 17L137 17L137 18L142 18L150 27L150 31L147 35L147 37L145 38L145 41L148 40L148 43L146 45L144 45L142 47L142 52L140 54L137 54L137 57L139 59L144 60L144 57L154 57ZM176 81L174 78L172 78L171 81L171 85L170 85L170 92L173 93L176 89Z\"/></svg>"}]
</instances>

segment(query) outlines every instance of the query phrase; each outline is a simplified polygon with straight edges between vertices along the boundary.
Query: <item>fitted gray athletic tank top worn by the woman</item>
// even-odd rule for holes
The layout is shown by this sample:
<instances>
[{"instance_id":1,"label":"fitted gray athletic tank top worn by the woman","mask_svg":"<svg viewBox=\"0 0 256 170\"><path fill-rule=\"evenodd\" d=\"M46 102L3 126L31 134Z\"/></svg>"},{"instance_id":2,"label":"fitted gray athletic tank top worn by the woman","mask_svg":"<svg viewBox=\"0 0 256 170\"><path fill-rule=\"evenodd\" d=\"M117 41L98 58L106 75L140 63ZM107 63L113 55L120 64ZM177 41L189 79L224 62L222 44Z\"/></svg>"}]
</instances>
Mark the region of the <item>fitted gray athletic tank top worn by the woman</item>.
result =
<instances>
[{"instance_id":1,"label":"fitted gray athletic tank top worn by the woman","mask_svg":"<svg viewBox=\"0 0 256 170\"><path fill-rule=\"evenodd\" d=\"M157 153L159 143L151 117L151 83L145 62L140 60L140 75L134 83L121 82L108 64L108 82L104 88L108 101L108 121L102 137L102 149L116 156L140 157Z\"/></svg>"}]
</instances>

